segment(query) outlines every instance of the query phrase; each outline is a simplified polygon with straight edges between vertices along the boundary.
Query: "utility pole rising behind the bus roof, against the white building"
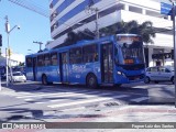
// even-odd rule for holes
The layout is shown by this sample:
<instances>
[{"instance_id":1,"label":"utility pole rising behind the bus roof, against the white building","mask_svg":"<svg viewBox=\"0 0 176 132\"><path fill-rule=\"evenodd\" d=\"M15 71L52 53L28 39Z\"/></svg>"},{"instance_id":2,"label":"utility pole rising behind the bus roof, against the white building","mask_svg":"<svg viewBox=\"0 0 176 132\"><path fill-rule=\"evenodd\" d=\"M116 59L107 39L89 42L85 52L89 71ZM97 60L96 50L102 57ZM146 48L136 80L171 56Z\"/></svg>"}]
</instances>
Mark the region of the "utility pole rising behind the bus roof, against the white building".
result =
<instances>
[{"instance_id":1,"label":"utility pole rising behind the bus roof, against the white building","mask_svg":"<svg viewBox=\"0 0 176 132\"><path fill-rule=\"evenodd\" d=\"M99 14L98 14L99 10L98 10L98 8L92 8L91 4L90 4L90 6L86 7L85 11L87 13L90 13L90 12L91 13L94 13L94 12L96 13L96 37L99 38L100 37L100 33L99 33L99 24L98 24L98 19L99 19Z\"/></svg>"}]
</instances>

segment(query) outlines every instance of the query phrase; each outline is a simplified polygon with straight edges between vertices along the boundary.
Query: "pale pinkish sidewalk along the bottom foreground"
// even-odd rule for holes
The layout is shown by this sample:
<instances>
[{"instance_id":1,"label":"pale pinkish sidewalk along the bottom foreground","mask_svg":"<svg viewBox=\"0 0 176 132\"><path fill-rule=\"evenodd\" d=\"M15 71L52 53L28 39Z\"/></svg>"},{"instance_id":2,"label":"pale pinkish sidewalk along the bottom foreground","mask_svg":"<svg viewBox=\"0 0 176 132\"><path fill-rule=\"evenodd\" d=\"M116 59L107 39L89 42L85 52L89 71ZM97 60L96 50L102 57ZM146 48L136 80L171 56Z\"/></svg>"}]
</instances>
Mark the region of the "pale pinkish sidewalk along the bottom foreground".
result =
<instances>
[{"instance_id":1,"label":"pale pinkish sidewalk along the bottom foreground","mask_svg":"<svg viewBox=\"0 0 176 132\"><path fill-rule=\"evenodd\" d=\"M176 108L174 106L117 106L106 109L99 107L91 110L48 112L38 119L37 122L45 122L46 128L50 128L41 130L42 132L175 132ZM36 122L36 119L21 119L18 122Z\"/></svg>"}]
</instances>

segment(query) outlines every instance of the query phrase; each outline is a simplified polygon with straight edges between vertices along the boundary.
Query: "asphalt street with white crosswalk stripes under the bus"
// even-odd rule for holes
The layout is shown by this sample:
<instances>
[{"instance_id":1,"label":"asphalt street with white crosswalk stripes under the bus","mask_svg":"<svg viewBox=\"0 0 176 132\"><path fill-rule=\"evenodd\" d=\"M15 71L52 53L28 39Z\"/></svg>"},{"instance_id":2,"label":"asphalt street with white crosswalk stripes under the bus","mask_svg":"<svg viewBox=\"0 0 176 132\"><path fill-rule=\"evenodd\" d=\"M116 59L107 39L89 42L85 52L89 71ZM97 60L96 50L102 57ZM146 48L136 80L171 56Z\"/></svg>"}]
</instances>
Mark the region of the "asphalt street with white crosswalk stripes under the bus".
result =
<instances>
[{"instance_id":1,"label":"asphalt street with white crosswalk stripes under the bus","mask_svg":"<svg viewBox=\"0 0 176 132\"><path fill-rule=\"evenodd\" d=\"M132 84L120 88L54 84L42 86L40 82L16 82L0 91L0 121L63 121L73 117L100 118L96 111L117 110L120 106L173 106L174 85ZM82 114L85 113L85 114ZM90 114L91 113L91 114ZM57 118L55 119L55 114ZM45 120L41 120L45 118ZM54 120L55 119L55 120Z\"/></svg>"}]
</instances>

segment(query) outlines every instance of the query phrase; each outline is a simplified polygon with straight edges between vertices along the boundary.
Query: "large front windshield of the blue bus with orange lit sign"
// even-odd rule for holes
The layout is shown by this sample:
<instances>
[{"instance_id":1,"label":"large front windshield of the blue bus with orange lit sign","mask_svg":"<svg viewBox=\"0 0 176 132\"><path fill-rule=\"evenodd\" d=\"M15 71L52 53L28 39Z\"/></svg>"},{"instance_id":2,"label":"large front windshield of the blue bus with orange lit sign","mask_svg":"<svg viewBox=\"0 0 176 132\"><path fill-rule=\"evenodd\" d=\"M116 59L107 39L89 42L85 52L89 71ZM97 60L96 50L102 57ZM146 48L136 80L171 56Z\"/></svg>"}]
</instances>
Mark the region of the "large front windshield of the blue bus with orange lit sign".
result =
<instances>
[{"instance_id":1,"label":"large front windshield of the blue bus with orange lit sign","mask_svg":"<svg viewBox=\"0 0 176 132\"><path fill-rule=\"evenodd\" d=\"M143 43L140 36L118 36L119 46L119 64L120 65L134 65L143 64ZM118 53L118 52L116 52Z\"/></svg>"}]
</instances>

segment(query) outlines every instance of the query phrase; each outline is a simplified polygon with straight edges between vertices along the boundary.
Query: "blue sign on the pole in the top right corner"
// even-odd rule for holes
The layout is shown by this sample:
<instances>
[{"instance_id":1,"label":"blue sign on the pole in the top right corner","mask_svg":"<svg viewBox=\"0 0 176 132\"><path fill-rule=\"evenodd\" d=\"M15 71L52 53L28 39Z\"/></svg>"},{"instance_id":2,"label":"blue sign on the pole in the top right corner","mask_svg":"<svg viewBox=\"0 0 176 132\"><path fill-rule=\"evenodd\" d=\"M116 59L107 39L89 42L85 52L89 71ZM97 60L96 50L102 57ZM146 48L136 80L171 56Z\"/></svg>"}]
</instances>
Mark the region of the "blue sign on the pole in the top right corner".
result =
<instances>
[{"instance_id":1,"label":"blue sign on the pole in the top right corner","mask_svg":"<svg viewBox=\"0 0 176 132\"><path fill-rule=\"evenodd\" d=\"M172 15L173 6L161 2L161 14Z\"/></svg>"}]
</instances>

